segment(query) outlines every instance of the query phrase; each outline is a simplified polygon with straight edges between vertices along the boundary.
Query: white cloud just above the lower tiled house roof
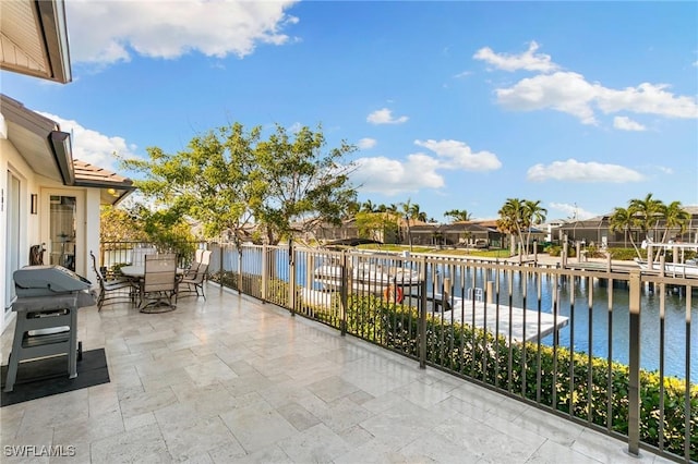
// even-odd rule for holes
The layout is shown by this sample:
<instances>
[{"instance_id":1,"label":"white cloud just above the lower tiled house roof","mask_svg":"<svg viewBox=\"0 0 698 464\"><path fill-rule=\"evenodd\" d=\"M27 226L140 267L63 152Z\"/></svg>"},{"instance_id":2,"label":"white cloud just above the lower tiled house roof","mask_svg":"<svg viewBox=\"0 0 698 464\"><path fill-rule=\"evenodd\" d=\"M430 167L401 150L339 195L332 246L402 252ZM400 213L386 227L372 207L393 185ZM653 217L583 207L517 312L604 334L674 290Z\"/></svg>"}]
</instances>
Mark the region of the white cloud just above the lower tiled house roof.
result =
<instances>
[{"instance_id":1,"label":"white cloud just above the lower tiled house roof","mask_svg":"<svg viewBox=\"0 0 698 464\"><path fill-rule=\"evenodd\" d=\"M71 134L73 159L79 159L116 172L118 171L118 162L113 157L115 152L124 158L136 157L134 152L136 149L135 145L128 145L127 141L122 137L110 137L97 131L83 127L76 121L62 119L40 111L37 112L57 122L62 132Z\"/></svg>"}]
</instances>

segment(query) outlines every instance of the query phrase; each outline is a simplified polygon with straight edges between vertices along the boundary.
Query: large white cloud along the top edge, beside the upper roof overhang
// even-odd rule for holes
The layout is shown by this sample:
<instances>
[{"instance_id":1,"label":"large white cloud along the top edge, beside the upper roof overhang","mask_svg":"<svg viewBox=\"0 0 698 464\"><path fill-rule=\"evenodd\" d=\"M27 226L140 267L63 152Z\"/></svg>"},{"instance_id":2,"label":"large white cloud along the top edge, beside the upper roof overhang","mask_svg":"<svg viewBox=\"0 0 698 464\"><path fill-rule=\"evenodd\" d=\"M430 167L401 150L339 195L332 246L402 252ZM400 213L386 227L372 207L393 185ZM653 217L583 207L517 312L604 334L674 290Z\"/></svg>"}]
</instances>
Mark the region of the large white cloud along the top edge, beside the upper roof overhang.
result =
<instances>
[{"instance_id":1,"label":"large white cloud along the top edge, beside the upper roof overhang","mask_svg":"<svg viewBox=\"0 0 698 464\"><path fill-rule=\"evenodd\" d=\"M245 57L257 44L281 45L298 19L285 10L294 1L65 2L73 62L110 64L133 52L174 59L197 51L207 57Z\"/></svg>"}]
</instances>

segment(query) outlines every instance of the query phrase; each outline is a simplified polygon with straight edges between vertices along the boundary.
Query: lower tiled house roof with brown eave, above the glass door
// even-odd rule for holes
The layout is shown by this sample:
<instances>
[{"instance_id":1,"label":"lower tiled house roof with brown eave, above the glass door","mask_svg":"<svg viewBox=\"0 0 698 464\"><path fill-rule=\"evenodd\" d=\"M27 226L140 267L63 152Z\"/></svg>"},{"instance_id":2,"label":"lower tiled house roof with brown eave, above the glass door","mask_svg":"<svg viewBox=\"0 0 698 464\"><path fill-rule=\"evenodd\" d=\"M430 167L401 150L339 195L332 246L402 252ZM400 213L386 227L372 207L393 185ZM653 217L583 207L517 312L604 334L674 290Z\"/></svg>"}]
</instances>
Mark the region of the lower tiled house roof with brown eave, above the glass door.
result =
<instances>
[{"instance_id":1,"label":"lower tiled house roof with brown eave, above the glass door","mask_svg":"<svg viewBox=\"0 0 698 464\"><path fill-rule=\"evenodd\" d=\"M63 185L100 188L100 202L116 205L135 187L127 178L99 167L73 160L71 138L60 126L0 94L0 113L7 138L32 170Z\"/></svg>"}]
</instances>

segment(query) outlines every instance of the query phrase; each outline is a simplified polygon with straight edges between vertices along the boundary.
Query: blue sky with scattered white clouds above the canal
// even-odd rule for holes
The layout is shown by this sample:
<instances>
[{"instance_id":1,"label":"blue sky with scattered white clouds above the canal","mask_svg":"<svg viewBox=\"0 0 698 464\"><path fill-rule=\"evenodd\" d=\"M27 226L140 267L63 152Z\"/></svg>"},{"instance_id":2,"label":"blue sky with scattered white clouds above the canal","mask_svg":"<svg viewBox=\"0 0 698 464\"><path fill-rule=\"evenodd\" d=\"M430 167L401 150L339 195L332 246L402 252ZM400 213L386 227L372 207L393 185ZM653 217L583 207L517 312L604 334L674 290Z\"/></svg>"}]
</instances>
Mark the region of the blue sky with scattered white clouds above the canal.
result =
<instances>
[{"instance_id":1,"label":"blue sky with scattered white clouds above the canal","mask_svg":"<svg viewBox=\"0 0 698 464\"><path fill-rule=\"evenodd\" d=\"M208 130L322 130L360 147L359 199L489 219L507 198L588 218L698 205L696 2L67 1L73 82L2 93L74 157Z\"/></svg>"}]
</instances>

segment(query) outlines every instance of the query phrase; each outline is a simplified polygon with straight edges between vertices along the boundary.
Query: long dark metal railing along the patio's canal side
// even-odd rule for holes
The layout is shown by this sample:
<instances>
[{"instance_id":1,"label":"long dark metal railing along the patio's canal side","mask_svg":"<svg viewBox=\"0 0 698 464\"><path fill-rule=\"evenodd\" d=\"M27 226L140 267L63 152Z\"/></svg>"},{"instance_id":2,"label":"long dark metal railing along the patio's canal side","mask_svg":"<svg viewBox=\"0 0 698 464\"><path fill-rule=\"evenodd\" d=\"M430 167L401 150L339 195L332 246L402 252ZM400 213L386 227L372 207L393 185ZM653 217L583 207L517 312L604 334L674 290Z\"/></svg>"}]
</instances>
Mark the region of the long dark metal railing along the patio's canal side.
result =
<instances>
[{"instance_id":1,"label":"long dark metal railing along the patio's canal side","mask_svg":"<svg viewBox=\"0 0 698 464\"><path fill-rule=\"evenodd\" d=\"M698 279L207 247L225 286L621 438L630 454L698 461Z\"/></svg>"}]
</instances>

